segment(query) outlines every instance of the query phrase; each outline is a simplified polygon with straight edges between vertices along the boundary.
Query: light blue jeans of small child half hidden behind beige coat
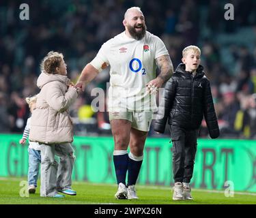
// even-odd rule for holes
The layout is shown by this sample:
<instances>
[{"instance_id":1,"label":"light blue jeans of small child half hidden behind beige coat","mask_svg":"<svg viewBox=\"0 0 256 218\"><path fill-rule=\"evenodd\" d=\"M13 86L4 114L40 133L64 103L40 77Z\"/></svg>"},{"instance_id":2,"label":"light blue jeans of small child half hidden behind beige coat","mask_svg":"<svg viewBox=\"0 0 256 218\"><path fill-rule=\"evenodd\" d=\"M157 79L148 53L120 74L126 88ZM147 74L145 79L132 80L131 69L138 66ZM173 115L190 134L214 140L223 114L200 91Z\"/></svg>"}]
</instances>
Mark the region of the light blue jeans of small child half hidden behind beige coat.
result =
<instances>
[{"instance_id":1,"label":"light blue jeans of small child half hidden behind beige coat","mask_svg":"<svg viewBox=\"0 0 256 218\"><path fill-rule=\"evenodd\" d=\"M41 152L35 149L29 149L29 172L27 174L27 181L29 185L37 187L39 166L41 163Z\"/></svg>"}]
</instances>

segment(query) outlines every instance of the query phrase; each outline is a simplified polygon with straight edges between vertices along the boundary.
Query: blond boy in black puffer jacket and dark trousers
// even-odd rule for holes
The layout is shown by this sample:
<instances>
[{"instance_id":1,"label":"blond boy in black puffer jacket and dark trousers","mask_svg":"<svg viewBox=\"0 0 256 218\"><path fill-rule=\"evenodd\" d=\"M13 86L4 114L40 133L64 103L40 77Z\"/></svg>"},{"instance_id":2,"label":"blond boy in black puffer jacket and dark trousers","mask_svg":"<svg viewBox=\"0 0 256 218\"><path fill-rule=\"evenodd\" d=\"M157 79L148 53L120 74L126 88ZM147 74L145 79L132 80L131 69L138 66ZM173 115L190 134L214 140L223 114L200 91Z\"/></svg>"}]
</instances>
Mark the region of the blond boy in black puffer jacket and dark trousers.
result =
<instances>
[{"instance_id":1,"label":"blond boy in black puffer jacket and dark trousers","mask_svg":"<svg viewBox=\"0 0 256 218\"><path fill-rule=\"evenodd\" d=\"M154 131L163 133L168 123L173 142L173 200L193 200L190 180L193 176L197 136L203 116L211 138L218 138L210 82L200 65L201 50L188 46L182 51L182 62L165 85Z\"/></svg>"}]
</instances>

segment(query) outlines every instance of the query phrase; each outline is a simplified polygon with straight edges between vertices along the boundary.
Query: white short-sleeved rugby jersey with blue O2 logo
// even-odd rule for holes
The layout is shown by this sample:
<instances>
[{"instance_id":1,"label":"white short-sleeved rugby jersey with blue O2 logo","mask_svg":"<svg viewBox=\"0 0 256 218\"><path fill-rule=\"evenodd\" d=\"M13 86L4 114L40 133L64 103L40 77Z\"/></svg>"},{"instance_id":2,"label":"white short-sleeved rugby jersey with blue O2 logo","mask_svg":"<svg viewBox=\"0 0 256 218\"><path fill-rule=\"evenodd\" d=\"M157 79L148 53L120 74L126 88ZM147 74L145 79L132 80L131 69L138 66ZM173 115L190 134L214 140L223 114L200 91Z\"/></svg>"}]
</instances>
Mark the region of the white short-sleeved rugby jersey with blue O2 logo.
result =
<instances>
[{"instance_id":1,"label":"white short-sleeved rugby jersey with blue O2 logo","mask_svg":"<svg viewBox=\"0 0 256 218\"><path fill-rule=\"evenodd\" d=\"M155 59L162 55L169 55L165 44L148 31L142 40L124 31L102 45L91 65L110 65L109 110L157 109L156 95L146 91L146 84L156 78Z\"/></svg>"}]
</instances>

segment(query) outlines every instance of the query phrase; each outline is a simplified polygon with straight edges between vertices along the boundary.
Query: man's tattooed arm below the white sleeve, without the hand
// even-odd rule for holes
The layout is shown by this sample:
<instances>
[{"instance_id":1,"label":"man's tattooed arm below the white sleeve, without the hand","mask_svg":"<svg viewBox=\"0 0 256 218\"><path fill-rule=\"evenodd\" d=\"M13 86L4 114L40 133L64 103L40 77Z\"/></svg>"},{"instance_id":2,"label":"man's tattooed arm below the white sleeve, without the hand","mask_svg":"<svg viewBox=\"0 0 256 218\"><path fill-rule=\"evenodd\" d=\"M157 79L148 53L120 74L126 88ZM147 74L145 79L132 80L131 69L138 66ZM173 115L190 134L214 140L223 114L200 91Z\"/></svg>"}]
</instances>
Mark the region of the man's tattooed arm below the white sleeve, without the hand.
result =
<instances>
[{"instance_id":1,"label":"man's tattooed arm below the white sleeve, without the hand","mask_svg":"<svg viewBox=\"0 0 256 218\"><path fill-rule=\"evenodd\" d=\"M162 55L156 59L156 65L160 69L160 74L157 78L162 80L162 83L167 82L173 74L173 63L169 55Z\"/></svg>"}]
</instances>

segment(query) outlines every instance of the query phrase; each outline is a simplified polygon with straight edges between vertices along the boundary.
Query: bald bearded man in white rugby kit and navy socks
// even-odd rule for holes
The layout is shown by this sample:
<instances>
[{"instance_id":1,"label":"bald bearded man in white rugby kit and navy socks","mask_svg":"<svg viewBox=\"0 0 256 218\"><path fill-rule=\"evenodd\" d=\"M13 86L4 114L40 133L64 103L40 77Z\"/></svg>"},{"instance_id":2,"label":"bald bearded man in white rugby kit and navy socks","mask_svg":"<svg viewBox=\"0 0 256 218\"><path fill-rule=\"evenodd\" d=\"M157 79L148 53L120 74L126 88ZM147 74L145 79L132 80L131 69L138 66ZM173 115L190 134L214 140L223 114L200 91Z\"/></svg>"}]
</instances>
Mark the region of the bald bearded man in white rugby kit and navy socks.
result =
<instances>
[{"instance_id":1,"label":"bald bearded man in white rugby kit and navy socks","mask_svg":"<svg viewBox=\"0 0 256 218\"><path fill-rule=\"evenodd\" d=\"M139 7L126 11L123 25L125 31L102 45L76 85L84 90L110 65L108 110L115 141L113 161L118 185L115 198L137 199L135 184L153 113L157 110L156 93L171 78L173 65L162 40L147 31ZM157 67L160 73L156 77Z\"/></svg>"}]
</instances>

